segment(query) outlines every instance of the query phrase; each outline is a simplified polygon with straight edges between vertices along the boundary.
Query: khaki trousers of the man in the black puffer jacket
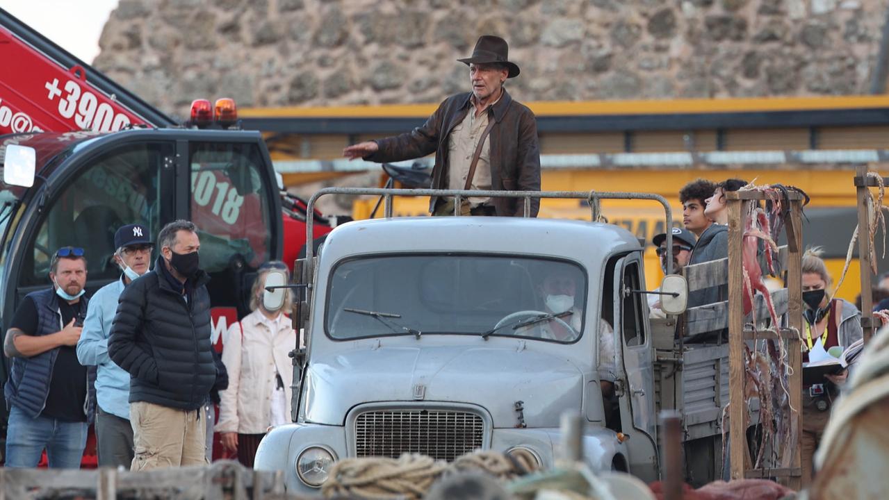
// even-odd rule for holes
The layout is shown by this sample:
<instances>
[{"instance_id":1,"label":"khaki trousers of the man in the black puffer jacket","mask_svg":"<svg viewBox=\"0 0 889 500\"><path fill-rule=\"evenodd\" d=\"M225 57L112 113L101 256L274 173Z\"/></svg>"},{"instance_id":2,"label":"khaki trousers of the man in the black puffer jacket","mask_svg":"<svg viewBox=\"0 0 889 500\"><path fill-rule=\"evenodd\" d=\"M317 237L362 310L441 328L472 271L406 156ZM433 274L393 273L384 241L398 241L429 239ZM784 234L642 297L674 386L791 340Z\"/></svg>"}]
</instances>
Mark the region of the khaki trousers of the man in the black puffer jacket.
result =
<instances>
[{"instance_id":1,"label":"khaki trousers of the man in the black puffer jacket","mask_svg":"<svg viewBox=\"0 0 889 500\"><path fill-rule=\"evenodd\" d=\"M206 418L199 409L167 408L146 401L130 403L135 456L131 471L205 465Z\"/></svg>"}]
</instances>

